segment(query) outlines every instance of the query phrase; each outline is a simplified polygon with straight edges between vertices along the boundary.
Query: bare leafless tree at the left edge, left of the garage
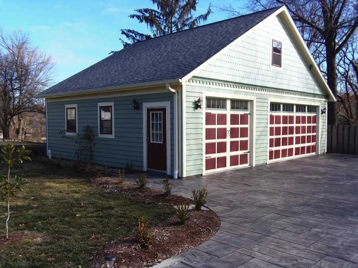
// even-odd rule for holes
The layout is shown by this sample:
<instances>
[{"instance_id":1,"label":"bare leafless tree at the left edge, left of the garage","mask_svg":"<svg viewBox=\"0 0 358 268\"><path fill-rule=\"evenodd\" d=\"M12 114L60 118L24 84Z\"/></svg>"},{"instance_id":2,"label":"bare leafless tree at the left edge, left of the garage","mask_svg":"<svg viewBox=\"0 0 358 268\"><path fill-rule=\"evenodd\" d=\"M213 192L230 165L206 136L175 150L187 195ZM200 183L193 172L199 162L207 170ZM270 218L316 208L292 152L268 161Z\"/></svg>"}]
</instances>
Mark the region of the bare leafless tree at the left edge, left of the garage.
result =
<instances>
[{"instance_id":1,"label":"bare leafless tree at the left edge, left of the garage","mask_svg":"<svg viewBox=\"0 0 358 268\"><path fill-rule=\"evenodd\" d=\"M22 137L22 115L43 111L35 95L50 83L53 68L50 57L32 47L23 32L0 32L0 128L10 138L16 117L17 135Z\"/></svg>"}]
</instances>

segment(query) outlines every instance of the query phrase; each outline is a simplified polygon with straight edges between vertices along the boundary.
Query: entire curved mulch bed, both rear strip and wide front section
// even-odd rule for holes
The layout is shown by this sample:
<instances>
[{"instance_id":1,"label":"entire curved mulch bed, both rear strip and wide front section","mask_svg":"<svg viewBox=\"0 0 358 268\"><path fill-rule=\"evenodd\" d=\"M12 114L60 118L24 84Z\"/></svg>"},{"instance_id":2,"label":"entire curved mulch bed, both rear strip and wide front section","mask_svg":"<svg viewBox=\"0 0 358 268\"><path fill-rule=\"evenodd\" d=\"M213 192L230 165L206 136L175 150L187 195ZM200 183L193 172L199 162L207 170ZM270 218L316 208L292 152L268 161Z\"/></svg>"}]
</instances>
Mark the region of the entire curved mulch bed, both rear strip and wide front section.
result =
<instances>
[{"instance_id":1,"label":"entire curved mulch bed, both rear strip and wide front section","mask_svg":"<svg viewBox=\"0 0 358 268\"><path fill-rule=\"evenodd\" d=\"M175 195L166 198L163 191L150 188L138 190L134 184L119 184L115 178L95 178L90 183L107 192L143 202L192 203L190 199ZM92 257L92 267L102 267L103 258L107 255L117 257L115 268L150 267L201 244L219 229L220 218L211 210L190 210L188 216L183 225L171 217L151 226L152 239L148 247L141 247L134 236L112 241Z\"/></svg>"}]
</instances>

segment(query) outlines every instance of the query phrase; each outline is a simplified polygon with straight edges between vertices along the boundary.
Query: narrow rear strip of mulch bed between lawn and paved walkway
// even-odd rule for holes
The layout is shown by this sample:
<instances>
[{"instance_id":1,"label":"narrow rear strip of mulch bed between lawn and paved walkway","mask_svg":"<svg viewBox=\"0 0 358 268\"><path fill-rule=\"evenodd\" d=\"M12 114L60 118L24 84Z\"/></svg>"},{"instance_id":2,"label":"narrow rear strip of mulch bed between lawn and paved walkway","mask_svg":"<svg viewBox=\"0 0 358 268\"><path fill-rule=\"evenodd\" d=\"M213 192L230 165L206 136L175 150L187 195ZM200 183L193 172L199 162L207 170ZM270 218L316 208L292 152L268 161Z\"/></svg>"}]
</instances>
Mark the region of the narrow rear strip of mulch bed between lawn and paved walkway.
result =
<instances>
[{"instance_id":1,"label":"narrow rear strip of mulch bed between lawn and paved walkway","mask_svg":"<svg viewBox=\"0 0 358 268\"><path fill-rule=\"evenodd\" d=\"M95 187L105 190L106 192L121 194L127 198L137 201L169 203L173 205L182 203L192 204L191 199L175 195L166 197L164 191L155 190L148 187L145 189L138 189L135 184L126 182L118 183L115 178L111 177L94 178L90 183Z\"/></svg>"}]
</instances>

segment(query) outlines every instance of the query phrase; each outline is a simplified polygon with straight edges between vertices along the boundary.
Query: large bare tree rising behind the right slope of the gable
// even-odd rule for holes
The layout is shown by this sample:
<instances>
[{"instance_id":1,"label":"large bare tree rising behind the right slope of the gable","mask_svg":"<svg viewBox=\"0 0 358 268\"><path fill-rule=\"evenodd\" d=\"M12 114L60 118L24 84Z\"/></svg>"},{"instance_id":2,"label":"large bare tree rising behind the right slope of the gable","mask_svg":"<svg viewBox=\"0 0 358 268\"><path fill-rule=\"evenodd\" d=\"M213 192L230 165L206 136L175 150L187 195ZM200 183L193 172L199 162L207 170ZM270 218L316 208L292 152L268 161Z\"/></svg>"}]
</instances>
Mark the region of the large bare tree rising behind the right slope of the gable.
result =
<instances>
[{"instance_id":1,"label":"large bare tree rising behind the right slope of the gable","mask_svg":"<svg viewBox=\"0 0 358 268\"><path fill-rule=\"evenodd\" d=\"M285 5L307 43L314 59L337 97L337 57L358 27L356 0L250 0L248 7L262 10ZM240 11L232 6L220 7L232 15ZM336 120L336 103L328 104L328 122Z\"/></svg>"}]
</instances>

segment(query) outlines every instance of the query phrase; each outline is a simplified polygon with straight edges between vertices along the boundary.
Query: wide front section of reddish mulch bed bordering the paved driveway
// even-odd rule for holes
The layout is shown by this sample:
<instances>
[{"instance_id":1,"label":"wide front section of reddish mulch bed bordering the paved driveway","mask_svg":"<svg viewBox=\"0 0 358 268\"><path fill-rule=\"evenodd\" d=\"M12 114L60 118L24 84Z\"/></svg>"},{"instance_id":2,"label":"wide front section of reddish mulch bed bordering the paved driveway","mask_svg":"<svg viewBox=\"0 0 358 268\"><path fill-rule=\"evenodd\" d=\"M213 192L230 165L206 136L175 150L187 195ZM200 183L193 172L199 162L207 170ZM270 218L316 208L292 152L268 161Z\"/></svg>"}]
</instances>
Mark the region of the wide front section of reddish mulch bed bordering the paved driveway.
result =
<instances>
[{"instance_id":1,"label":"wide front section of reddish mulch bed bordering the paved driveway","mask_svg":"<svg viewBox=\"0 0 358 268\"><path fill-rule=\"evenodd\" d=\"M113 241L93 256L92 267L101 267L106 255L117 257L115 268L150 267L201 244L213 236L219 226L220 219L211 210L190 210L184 225L178 225L172 217L153 226L152 242L147 248L142 248L134 237Z\"/></svg>"}]
</instances>

